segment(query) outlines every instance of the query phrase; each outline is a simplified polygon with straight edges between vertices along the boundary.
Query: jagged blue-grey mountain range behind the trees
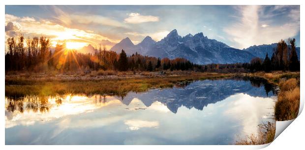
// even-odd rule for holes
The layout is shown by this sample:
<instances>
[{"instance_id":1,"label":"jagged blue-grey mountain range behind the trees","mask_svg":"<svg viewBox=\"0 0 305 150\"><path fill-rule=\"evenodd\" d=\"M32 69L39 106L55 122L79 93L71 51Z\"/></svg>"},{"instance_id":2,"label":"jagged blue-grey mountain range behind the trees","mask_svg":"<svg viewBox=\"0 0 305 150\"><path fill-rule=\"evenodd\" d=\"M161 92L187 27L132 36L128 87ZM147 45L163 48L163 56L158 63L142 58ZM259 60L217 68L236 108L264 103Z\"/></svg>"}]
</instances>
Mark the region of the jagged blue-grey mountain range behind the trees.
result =
<instances>
[{"instance_id":1,"label":"jagged blue-grey mountain range behind the trees","mask_svg":"<svg viewBox=\"0 0 305 150\"><path fill-rule=\"evenodd\" d=\"M140 53L142 55L154 56L170 59L177 57L185 58L196 64L211 64L211 63L237 63L250 62L254 57L265 58L268 52L271 58L276 43L270 45L251 46L247 49L239 50L232 48L225 43L209 39L202 32L195 35L187 34L180 36L176 29L172 30L162 40L156 42L150 36L134 45L131 40L126 37L121 42L115 44L110 50L121 53L122 49L127 55ZM300 59L300 48L297 48L297 54ZM81 49L81 51L94 51L94 48L89 45Z\"/></svg>"}]
</instances>

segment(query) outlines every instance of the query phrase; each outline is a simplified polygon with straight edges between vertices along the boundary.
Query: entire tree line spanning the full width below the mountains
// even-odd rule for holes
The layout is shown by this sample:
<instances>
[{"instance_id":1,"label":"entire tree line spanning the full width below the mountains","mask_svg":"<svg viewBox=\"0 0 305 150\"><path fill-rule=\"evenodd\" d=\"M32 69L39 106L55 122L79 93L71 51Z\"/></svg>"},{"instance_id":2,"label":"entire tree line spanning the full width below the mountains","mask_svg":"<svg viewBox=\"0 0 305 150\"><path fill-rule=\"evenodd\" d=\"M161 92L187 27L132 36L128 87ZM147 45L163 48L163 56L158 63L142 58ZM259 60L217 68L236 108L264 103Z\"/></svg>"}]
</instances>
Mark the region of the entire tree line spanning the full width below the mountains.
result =
<instances>
[{"instance_id":1,"label":"entire tree line spanning the full width below the mountains","mask_svg":"<svg viewBox=\"0 0 305 150\"><path fill-rule=\"evenodd\" d=\"M26 46L24 45L26 43ZM139 53L127 56L106 50L105 46L94 48L93 53L79 53L69 50L64 42L58 42L55 50L50 49L51 41L46 37L25 39L10 37L6 40L5 71L30 72L87 72L92 70L118 71L161 71L188 70L198 72L257 72L257 71L299 71L300 61L296 52L295 39L277 43L272 57L253 58L249 63L198 65L184 58L156 58Z\"/></svg>"}]
</instances>

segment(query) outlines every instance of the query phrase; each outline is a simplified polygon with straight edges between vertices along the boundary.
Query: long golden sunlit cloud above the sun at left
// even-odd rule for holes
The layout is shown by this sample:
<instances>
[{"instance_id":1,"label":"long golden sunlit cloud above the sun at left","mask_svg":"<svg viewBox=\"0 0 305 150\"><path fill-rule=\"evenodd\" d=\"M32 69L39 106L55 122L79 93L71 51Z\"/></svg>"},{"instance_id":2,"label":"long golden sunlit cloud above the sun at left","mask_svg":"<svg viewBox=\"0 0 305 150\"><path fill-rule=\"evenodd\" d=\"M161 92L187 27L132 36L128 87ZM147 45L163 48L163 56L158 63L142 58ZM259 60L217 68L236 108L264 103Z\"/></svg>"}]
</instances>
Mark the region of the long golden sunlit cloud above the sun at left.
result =
<instances>
[{"instance_id":1,"label":"long golden sunlit cloud above the sun at left","mask_svg":"<svg viewBox=\"0 0 305 150\"><path fill-rule=\"evenodd\" d=\"M20 18L5 14L5 37L14 37L21 34L24 34L25 37L46 36L51 38L52 43L56 43L56 41L74 41L96 44L102 40L113 42L113 40L92 31L69 28L51 21L37 21L30 17Z\"/></svg>"}]
</instances>

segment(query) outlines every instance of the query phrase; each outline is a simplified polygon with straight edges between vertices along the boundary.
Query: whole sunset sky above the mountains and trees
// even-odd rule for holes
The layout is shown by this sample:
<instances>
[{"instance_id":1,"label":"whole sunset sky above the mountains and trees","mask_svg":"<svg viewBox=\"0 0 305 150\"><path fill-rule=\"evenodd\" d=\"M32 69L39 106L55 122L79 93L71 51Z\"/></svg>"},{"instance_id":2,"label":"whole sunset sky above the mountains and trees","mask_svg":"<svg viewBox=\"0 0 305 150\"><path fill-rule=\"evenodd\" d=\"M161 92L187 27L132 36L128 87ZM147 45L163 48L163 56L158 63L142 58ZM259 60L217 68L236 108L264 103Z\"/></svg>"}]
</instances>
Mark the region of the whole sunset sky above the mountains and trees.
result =
<instances>
[{"instance_id":1,"label":"whole sunset sky above the mountains and trees","mask_svg":"<svg viewBox=\"0 0 305 150\"><path fill-rule=\"evenodd\" d=\"M46 36L52 46L79 49L129 37L155 41L170 31L203 32L237 49L295 38L300 47L299 5L5 5L5 39Z\"/></svg>"}]
</instances>

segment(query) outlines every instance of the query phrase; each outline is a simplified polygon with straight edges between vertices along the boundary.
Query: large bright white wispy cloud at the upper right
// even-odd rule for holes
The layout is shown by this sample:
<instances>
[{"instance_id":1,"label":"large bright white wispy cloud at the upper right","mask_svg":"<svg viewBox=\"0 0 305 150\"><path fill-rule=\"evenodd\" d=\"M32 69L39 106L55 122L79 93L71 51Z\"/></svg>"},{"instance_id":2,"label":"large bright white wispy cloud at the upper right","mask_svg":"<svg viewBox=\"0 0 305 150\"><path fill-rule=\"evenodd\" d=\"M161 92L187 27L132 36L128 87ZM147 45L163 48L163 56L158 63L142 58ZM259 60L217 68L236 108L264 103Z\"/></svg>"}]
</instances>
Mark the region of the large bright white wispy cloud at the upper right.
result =
<instances>
[{"instance_id":1,"label":"large bright white wispy cloud at the upper right","mask_svg":"<svg viewBox=\"0 0 305 150\"><path fill-rule=\"evenodd\" d=\"M285 7L276 7L276 9L283 10ZM265 9L263 6L249 5L239 6L238 8L241 14L241 17L238 18L240 21L224 28L224 31L228 34L228 39L238 49L248 48L252 45L275 43L280 39L293 37L300 31L300 10L295 10L298 8L285 8L285 10L289 10L287 14L283 14L289 18L289 22L285 23L276 22L278 20L274 18L274 11L262 13ZM266 16L268 17L266 18ZM268 19L273 24L261 23L260 18Z\"/></svg>"}]
</instances>

